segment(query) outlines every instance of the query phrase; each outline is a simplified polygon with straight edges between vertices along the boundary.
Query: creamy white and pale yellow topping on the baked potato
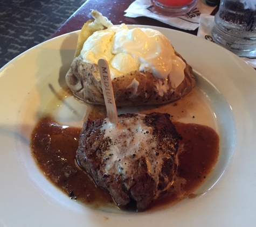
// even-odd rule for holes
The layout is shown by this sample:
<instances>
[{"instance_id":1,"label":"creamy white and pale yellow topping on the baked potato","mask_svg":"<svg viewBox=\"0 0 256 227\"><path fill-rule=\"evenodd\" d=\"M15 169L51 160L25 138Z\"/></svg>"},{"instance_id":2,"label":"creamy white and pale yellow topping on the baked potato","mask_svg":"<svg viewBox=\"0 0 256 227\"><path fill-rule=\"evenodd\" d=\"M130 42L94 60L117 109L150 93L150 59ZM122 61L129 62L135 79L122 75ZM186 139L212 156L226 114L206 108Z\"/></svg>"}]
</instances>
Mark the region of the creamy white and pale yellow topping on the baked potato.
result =
<instances>
[{"instance_id":1,"label":"creamy white and pale yellow topping on the baked potato","mask_svg":"<svg viewBox=\"0 0 256 227\"><path fill-rule=\"evenodd\" d=\"M135 70L150 70L158 79L171 80L174 88L184 80L185 63L175 55L170 40L149 28L110 25L85 41L81 56L85 62L95 64L105 58L112 79Z\"/></svg>"}]
</instances>

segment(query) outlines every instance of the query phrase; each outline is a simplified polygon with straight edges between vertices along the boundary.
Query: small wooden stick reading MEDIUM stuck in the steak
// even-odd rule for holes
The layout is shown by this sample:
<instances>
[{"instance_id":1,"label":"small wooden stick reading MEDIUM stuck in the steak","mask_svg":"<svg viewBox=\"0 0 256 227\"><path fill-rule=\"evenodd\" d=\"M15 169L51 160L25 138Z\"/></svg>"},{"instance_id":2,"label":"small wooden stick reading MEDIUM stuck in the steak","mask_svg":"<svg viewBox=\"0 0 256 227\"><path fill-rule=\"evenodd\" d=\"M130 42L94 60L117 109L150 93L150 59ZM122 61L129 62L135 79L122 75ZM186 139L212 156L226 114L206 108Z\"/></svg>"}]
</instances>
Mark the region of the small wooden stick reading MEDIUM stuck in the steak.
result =
<instances>
[{"instance_id":1,"label":"small wooden stick reading MEDIUM stuck in the steak","mask_svg":"<svg viewBox=\"0 0 256 227\"><path fill-rule=\"evenodd\" d=\"M117 126L118 117L113 93L112 81L109 73L108 62L105 59L99 59L98 68L100 72L101 87L103 90L105 105L109 121Z\"/></svg>"}]
</instances>

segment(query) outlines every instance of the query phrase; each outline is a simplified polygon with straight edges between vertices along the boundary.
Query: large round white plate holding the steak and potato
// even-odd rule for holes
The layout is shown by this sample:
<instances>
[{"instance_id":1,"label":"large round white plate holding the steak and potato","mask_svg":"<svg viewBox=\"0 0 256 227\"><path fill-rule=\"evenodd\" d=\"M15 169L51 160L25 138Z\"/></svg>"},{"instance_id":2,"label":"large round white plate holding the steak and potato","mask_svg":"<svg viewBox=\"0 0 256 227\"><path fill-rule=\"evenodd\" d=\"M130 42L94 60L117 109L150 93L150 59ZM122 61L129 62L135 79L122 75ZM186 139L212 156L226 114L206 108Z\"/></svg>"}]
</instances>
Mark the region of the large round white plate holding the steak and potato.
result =
<instances>
[{"instance_id":1,"label":"large round white plate holding the steak and potato","mask_svg":"<svg viewBox=\"0 0 256 227\"><path fill-rule=\"evenodd\" d=\"M143 213L93 210L70 200L30 155L34 123L64 86L78 32L46 41L0 70L1 226L254 226L256 224L256 72L236 55L190 34L155 27L204 77L216 116L220 156L203 195Z\"/></svg>"}]
</instances>

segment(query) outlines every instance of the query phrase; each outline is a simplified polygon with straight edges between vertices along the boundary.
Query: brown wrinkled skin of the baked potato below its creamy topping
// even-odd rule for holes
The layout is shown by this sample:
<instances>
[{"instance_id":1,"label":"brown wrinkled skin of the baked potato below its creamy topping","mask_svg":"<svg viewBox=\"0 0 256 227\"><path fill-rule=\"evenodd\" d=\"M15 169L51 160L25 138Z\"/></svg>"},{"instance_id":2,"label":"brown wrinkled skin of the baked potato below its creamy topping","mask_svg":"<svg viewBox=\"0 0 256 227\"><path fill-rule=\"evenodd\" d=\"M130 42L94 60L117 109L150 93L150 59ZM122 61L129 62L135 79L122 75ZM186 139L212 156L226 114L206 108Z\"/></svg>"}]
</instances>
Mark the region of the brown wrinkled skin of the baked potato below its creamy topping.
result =
<instances>
[{"instance_id":1,"label":"brown wrinkled skin of the baked potato below its creamy topping","mask_svg":"<svg viewBox=\"0 0 256 227\"><path fill-rule=\"evenodd\" d=\"M185 63L186 61L175 52ZM155 78L151 72L130 72L112 80L115 103L121 106L139 106L164 104L178 100L188 94L195 87L195 77L192 75L192 68L186 63L184 69L185 78L179 86L174 89L168 83L169 90L160 96L156 89L156 83L161 83L163 79ZM99 76L98 65L86 63L79 55L72 62L66 74L66 82L73 94L80 100L92 104L105 105L101 81L95 79ZM139 82L137 92L134 87L129 86L133 80Z\"/></svg>"}]
</instances>

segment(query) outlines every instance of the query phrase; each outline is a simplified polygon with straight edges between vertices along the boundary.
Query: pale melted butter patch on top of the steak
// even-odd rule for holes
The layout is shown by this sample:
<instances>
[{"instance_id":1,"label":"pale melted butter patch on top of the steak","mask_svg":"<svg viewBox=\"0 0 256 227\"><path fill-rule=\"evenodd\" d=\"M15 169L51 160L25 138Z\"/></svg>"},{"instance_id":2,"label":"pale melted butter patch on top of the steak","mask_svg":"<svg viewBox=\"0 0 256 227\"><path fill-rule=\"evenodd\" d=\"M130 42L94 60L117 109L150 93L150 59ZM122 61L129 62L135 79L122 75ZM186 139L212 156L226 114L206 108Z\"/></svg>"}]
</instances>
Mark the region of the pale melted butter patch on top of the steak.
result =
<instances>
[{"instance_id":1,"label":"pale melted butter patch on top of the steak","mask_svg":"<svg viewBox=\"0 0 256 227\"><path fill-rule=\"evenodd\" d=\"M108 151L105 153L105 169L107 174L115 174L118 170L126 178L134 174L133 162L144 157L147 173L158 185L162 170L160 160L165 155L158 152L158 138L153 136L153 127L144 123L145 116L140 114L132 118L120 118L117 127L108 118L104 119L104 138L110 139ZM169 183L168 176L164 176L164 180Z\"/></svg>"}]
</instances>

